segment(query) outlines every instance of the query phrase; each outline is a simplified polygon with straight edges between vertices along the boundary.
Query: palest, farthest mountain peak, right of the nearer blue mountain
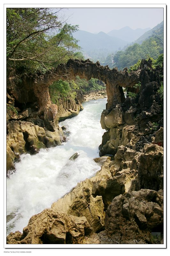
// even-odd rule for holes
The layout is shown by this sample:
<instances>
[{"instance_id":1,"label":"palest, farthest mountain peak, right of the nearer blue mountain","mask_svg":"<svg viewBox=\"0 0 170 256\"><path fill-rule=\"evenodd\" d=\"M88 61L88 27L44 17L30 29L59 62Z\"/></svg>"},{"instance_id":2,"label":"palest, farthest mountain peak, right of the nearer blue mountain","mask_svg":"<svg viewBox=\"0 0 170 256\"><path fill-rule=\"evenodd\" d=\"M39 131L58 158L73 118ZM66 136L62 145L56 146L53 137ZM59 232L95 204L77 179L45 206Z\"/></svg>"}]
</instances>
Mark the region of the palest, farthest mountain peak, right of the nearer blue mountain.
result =
<instances>
[{"instance_id":1,"label":"palest, farthest mountain peak, right of the nearer blue mountain","mask_svg":"<svg viewBox=\"0 0 170 256\"><path fill-rule=\"evenodd\" d=\"M119 30L113 29L112 31L108 32L107 35L118 37L122 40L129 42L135 41L139 36L142 36L145 32L150 30L151 28L136 28L132 29L129 27L124 27Z\"/></svg>"}]
</instances>

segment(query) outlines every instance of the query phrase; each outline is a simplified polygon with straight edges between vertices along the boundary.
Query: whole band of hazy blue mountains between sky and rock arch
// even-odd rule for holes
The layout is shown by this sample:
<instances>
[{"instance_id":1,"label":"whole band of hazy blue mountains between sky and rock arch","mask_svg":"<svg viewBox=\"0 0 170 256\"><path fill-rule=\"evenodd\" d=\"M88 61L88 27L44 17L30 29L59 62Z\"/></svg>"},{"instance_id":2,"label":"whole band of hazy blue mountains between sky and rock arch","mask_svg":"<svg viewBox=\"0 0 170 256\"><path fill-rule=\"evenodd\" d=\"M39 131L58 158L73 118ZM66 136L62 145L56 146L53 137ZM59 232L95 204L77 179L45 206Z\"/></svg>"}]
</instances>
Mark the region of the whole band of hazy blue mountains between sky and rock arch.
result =
<instances>
[{"instance_id":1,"label":"whole band of hazy blue mountains between sky and rock arch","mask_svg":"<svg viewBox=\"0 0 170 256\"><path fill-rule=\"evenodd\" d=\"M163 21L154 28L148 29L149 28L131 29L127 26L119 30L113 29L107 34L102 31L93 34L79 30L73 34L73 37L79 40L78 44L81 46L81 51L86 59L89 58L94 62L99 60L102 65L106 65L106 62L109 61L109 64L112 62L111 55L117 54L116 52L120 50L125 51L129 45L133 45L134 43L142 44L143 41L153 36L154 33L157 34L157 36L163 33ZM118 38L118 36L124 39L126 38L126 40L122 40ZM136 39L137 36L139 37L135 41L134 39ZM107 58L109 58L109 60L106 61Z\"/></svg>"}]
</instances>

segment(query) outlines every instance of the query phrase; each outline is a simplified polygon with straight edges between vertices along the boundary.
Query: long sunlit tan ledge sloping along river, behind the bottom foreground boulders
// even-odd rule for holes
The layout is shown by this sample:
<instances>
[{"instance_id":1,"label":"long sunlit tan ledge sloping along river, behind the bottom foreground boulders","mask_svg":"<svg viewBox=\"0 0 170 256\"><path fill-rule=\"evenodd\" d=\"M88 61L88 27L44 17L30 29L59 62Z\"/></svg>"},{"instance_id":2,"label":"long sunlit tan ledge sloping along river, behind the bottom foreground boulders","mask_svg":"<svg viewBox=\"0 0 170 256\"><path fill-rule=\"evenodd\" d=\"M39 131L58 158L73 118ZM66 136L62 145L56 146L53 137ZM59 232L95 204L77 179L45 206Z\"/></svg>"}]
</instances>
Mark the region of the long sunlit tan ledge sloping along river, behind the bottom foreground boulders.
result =
<instances>
[{"instance_id":1,"label":"long sunlit tan ledge sloping along river, behind the bottom foreground boulders","mask_svg":"<svg viewBox=\"0 0 170 256\"><path fill-rule=\"evenodd\" d=\"M70 193L53 203L51 208L75 216L85 216L94 231L102 229L104 209L115 196L128 192L136 175L136 171L130 168L118 172L113 162L107 159L94 177L78 183Z\"/></svg>"}]
</instances>

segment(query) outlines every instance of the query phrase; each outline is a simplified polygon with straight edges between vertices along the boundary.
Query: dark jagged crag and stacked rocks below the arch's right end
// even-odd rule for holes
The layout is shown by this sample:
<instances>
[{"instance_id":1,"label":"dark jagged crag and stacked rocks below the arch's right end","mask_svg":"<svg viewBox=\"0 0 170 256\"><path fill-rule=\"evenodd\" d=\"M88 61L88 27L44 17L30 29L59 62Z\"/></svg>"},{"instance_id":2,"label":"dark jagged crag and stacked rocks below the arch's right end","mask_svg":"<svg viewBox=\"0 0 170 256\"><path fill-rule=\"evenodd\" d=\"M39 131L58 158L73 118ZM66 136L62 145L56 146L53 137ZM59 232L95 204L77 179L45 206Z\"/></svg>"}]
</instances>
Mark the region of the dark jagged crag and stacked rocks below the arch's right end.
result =
<instances>
[{"instance_id":1,"label":"dark jagged crag and stacked rocks below the arch's right end","mask_svg":"<svg viewBox=\"0 0 170 256\"><path fill-rule=\"evenodd\" d=\"M142 151L145 143L152 142L152 134L157 136L154 134L155 128L158 130L163 126L163 104L158 93L159 75L163 71L153 70L150 61L142 63L141 67L146 66L138 70L140 92L134 99L127 97L121 105L117 104L110 109L107 106L101 115L101 126L107 132L100 146L100 156L115 155L120 145ZM163 146L162 142L158 143Z\"/></svg>"}]
</instances>

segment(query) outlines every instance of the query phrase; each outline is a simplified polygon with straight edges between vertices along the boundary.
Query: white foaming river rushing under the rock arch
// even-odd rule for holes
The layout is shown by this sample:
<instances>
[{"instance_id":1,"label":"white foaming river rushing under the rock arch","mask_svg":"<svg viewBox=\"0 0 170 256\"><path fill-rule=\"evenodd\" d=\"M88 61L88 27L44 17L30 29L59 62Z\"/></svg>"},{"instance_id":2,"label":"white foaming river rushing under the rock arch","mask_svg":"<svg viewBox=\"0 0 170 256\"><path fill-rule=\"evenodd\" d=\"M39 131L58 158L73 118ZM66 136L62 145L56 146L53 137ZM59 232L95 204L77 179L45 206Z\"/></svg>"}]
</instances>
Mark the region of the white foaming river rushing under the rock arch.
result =
<instances>
[{"instance_id":1,"label":"white foaming river rushing under the rock arch","mask_svg":"<svg viewBox=\"0 0 170 256\"><path fill-rule=\"evenodd\" d=\"M60 122L70 132L62 146L41 149L36 155L21 155L21 161L15 164L16 172L7 179L7 234L22 232L32 215L49 208L100 169L93 158L99 156L104 133L100 117L105 104L106 99L85 102L78 116ZM78 158L70 161L75 152Z\"/></svg>"}]
</instances>

